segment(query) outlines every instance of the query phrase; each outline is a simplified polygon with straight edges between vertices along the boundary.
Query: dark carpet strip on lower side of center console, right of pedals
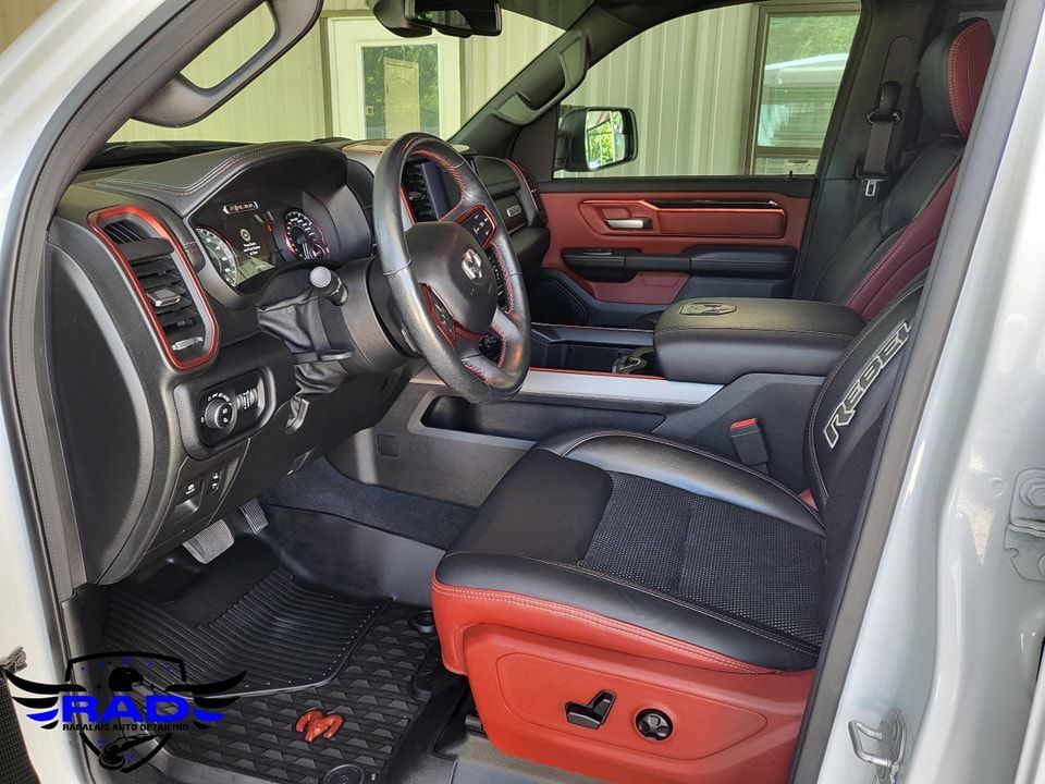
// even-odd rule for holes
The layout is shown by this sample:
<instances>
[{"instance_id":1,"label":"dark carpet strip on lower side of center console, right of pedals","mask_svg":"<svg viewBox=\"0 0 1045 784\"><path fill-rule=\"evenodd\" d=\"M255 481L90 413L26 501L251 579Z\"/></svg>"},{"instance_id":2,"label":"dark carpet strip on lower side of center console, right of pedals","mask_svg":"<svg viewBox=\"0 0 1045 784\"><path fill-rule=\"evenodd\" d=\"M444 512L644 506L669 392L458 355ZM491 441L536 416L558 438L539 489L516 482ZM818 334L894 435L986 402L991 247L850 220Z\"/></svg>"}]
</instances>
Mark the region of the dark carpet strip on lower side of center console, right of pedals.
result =
<instances>
[{"instance_id":1,"label":"dark carpet strip on lower side of center console, right of pedals","mask_svg":"<svg viewBox=\"0 0 1045 784\"><path fill-rule=\"evenodd\" d=\"M475 510L349 479L318 460L283 479L261 503L337 515L445 550Z\"/></svg>"}]
</instances>

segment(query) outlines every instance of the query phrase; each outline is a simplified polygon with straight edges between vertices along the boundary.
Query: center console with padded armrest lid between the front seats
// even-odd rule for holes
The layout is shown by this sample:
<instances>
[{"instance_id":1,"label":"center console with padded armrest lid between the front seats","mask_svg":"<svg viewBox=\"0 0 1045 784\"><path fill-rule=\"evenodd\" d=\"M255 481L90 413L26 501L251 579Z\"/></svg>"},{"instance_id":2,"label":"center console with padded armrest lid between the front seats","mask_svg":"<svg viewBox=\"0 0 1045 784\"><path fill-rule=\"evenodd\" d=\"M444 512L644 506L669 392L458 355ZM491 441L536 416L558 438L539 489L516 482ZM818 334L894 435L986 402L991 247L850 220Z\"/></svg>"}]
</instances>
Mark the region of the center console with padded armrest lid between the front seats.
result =
<instances>
[{"instance_id":1,"label":"center console with padded armrest lid between the front seats","mask_svg":"<svg viewBox=\"0 0 1045 784\"><path fill-rule=\"evenodd\" d=\"M754 421L761 469L800 492L803 424L863 326L839 305L741 298L673 303L653 331L533 324L515 399L470 403L423 368L381 422L330 461L361 481L478 506L551 436L627 430L748 462L733 430ZM446 461L447 450L458 458Z\"/></svg>"}]
</instances>

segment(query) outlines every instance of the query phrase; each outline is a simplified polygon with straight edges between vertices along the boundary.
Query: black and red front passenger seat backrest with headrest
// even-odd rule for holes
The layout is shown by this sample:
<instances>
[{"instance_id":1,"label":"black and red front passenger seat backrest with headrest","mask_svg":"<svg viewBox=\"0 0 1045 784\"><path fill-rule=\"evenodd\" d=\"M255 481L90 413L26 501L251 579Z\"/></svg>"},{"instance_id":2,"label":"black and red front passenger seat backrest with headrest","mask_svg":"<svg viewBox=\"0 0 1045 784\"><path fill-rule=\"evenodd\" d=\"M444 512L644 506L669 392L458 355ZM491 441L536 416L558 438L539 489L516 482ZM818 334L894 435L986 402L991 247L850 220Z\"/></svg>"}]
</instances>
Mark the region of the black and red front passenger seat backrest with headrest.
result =
<instances>
[{"instance_id":1,"label":"black and red front passenger seat backrest with headrest","mask_svg":"<svg viewBox=\"0 0 1045 784\"><path fill-rule=\"evenodd\" d=\"M873 318L929 267L993 53L994 34L983 19L947 29L925 49L919 85L937 137L852 230L821 272L812 299Z\"/></svg>"}]
</instances>

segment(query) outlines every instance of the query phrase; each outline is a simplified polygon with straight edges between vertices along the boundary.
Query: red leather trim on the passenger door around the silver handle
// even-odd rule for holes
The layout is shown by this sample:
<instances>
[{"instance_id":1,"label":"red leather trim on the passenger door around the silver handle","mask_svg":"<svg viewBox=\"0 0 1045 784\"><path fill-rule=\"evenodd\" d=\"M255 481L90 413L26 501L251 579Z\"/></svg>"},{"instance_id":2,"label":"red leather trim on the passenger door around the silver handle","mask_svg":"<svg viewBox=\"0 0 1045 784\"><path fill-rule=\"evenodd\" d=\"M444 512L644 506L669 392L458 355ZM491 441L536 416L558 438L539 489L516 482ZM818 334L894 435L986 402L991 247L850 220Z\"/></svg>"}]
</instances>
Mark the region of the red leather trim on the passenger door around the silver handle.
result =
<instances>
[{"instance_id":1,"label":"red leather trim on the passenger door around the silver handle","mask_svg":"<svg viewBox=\"0 0 1045 784\"><path fill-rule=\"evenodd\" d=\"M541 198L548 211L548 226L552 235L544 257L544 267L560 270L597 299L644 305L671 303L688 280L688 275L677 272L639 272L626 282L589 281L563 262L563 248L639 248L644 253L662 254L677 254L693 245L774 245L798 248L809 211L809 199L772 192L600 194L593 188L587 193L543 193ZM769 200L775 201L779 210L734 207L673 209L650 204L664 199ZM610 217L650 218L653 229L608 229L603 220L607 210Z\"/></svg>"}]
</instances>

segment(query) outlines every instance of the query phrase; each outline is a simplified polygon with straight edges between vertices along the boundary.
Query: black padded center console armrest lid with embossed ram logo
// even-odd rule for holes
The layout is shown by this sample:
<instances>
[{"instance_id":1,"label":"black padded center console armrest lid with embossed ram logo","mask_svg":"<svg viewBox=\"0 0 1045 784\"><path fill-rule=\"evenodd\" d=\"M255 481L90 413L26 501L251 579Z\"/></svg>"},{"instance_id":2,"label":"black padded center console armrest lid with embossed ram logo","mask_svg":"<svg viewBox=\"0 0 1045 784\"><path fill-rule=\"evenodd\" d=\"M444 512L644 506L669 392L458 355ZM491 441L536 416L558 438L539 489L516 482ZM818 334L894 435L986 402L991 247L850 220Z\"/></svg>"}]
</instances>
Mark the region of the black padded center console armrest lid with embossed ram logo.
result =
<instances>
[{"instance_id":1,"label":"black padded center console armrest lid with embossed ram logo","mask_svg":"<svg viewBox=\"0 0 1045 784\"><path fill-rule=\"evenodd\" d=\"M684 299L661 315L656 360L672 381L726 384L747 373L826 376L864 320L801 299Z\"/></svg>"}]
</instances>

